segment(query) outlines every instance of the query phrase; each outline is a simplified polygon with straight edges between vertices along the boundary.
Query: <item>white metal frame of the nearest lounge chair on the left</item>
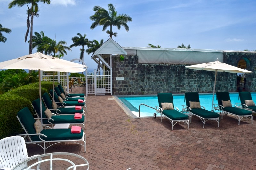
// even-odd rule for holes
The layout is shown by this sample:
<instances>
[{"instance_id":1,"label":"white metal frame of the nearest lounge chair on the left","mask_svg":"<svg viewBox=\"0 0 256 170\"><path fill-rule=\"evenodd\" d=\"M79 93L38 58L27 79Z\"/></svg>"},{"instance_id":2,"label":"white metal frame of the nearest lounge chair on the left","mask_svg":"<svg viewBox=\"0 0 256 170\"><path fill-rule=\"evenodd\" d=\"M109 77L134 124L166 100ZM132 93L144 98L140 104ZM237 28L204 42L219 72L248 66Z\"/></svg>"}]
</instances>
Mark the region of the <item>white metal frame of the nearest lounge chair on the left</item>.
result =
<instances>
[{"instance_id":1,"label":"white metal frame of the nearest lounge chair on the left","mask_svg":"<svg viewBox=\"0 0 256 170\"><path fill-rule=\"evenodd\" d=\"M24 125L23 125L22 122L20 121L20 118L19 118L18 116L16 116L16 117L17 117L17 119L19 120L19 122L20 122L22 128L23 128L24 131L26 132L26 134L20 134L20 135L18 135L18 136L28 137L28 140L29 140L29 141L25 142L26 144L36 144L36 145L40 146L41 148L43 148L43 149L44 149L44 153L45 153L45 150L46 150L47 148L49 148L50 146L53 146L54 144L58 144L58 143L62 143L62 142L72 142L72 143L76 143L76 144L79 144L79 145L81 145L81 146L84 146L84 152L86 152L86 142L85 142L86 136L85 136L85 133L84 133L84 132L83 132L83 137L82 137L81 139L77 139L77 140L52 140L52 141L45 141L45 140L43 140L41 137L42 137L42 136L47 137L46 135L44 135L44 134L42 134L42 133L29 134L28 131L27 131L27 129L24 127ZM51 127L45 126L45 125L44 125L43 127L52 129ZM41 141L32 141L32 139L30 138L30 136L32 136L32 135L38 135L38 137L39 137L39 139L40 139ZM77 141L82 141L82 142L84 143L84 145L78 143ZM46 146L46 143L48 143L49 146ZM52 144L51 144L51 143L52 143ZM40 144L43 144L43 146L40 145Z\"/></svg>"}]
</instances>

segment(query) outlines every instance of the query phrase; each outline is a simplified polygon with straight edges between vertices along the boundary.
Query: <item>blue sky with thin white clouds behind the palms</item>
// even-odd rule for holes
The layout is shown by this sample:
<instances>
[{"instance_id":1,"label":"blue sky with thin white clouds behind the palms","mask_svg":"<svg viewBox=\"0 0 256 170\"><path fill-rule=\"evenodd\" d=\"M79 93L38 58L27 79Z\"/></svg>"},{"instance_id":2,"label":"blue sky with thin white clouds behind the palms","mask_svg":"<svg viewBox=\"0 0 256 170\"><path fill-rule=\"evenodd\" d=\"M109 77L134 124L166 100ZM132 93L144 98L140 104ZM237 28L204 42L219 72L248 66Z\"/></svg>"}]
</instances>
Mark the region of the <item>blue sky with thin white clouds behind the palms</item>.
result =
<instances>
[{"instance_id":1,"label":"blue sky with thin white clouds behind the palms","mask_svg":"<svg viewBox=\"0 0 256 170\"><path fill-rule=\"evenodd\" d=\"M28 54L28 43L24 42L27 6L8 9L10 2L0 0L0 23L12 29L10 34L4 33L6 43L0 43L0 62ZM95 5L108 9L109 3L118 14L127 14L133 20L127 23L128 32L124 27L113 27L118 33L113 39L123 47L146 47L151 43L177 48L183 43L192 49L256 49L255 0L51 0L49 5L39 3L40 16L34 18L33 32L43 31L45 36L66 41L68 46L77 33L87 34L89 40L106 41L109 36L102 26L90 29L93 21L89 17ZM80 47L71 49L63 59L79 58ZM90 71L96 68L91 55L84 57Z\"/></svg>"}]
</instances>

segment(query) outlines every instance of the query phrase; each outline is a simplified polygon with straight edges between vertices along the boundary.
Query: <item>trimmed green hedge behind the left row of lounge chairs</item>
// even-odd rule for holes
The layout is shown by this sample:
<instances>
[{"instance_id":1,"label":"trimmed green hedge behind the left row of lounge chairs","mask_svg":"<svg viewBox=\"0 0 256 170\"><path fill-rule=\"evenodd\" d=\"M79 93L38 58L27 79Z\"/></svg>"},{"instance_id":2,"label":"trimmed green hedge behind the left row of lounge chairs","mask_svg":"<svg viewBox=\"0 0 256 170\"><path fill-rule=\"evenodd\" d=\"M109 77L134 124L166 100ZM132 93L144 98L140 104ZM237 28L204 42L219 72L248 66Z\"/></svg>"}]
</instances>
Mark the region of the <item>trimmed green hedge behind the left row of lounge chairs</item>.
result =
<instances>
[{"instance_id":1,"label":"trimmed green hedge behind the left row of lounge chairs","mask_svg":"<svg viewBox=\"0 0 256 170\"><path fill-rule=\"evenodd\" d=\"M58 83L55 83L58 85ZM53 88L52 82L41 82L41 92L49 92ZM32 101L39 98L39 83L32 83L18 87L0 95L0 139L23 133L17 113L28 107L34 113Z\"/></svg>"}]
</instances>

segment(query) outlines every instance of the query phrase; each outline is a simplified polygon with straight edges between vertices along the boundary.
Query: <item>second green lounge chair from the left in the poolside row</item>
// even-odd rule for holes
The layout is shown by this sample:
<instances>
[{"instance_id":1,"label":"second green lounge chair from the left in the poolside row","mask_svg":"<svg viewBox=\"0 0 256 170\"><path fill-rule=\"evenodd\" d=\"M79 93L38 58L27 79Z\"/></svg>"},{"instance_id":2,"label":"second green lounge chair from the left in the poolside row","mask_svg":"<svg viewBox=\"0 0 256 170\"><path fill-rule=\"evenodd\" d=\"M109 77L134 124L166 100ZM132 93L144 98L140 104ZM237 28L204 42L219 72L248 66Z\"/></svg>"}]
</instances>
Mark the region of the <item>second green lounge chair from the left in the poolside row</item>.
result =
<instances>
[{"instance_id":1,"label":"second green lounge chair from the left in the poolside row","mask_svg":"<svg viewBox=\"0 0 256 170\"><path fill-rule=\"evenodd\" d=\"M220 115L218 113L206 110L204 106L200 105L199 94L197 92L185 93L186 106L183 105L182 111L189 111L191 114L190 122L192 122L192 116L199 117L204 124L208 120L215 120L220 125Z\"/></svg>"}]
</instances>

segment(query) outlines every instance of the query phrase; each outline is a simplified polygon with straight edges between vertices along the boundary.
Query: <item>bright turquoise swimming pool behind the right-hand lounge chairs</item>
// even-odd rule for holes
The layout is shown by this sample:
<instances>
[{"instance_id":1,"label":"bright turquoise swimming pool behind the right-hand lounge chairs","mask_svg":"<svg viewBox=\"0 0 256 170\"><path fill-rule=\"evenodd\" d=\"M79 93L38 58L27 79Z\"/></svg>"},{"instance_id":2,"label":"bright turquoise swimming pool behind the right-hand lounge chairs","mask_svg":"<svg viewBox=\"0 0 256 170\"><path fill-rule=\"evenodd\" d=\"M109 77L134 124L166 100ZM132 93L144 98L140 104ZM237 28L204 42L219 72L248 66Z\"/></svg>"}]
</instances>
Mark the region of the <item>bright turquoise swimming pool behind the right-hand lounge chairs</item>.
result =
<instances>
[{"instance_id":1,"label":"bright turquoise swimming pool behind the right-hand lounge chairs","mask_svg":"<svg viewBox=\"0 0 256 170\"><path fill-rule=\"evenodd\" d=\"M252 99L256 103L256 93L251 93ZM238 100L238 93L229 93L230 100L232 104L240 103ZM156 108L158 106L157 95L147 95L147 96L117 96L119 102L122 106L130 113L134 118L139 117L139 105L145 104L150 107ZM175 107L178 107L179 110L182 110L182 105L186 105L184 94L173 94L173 104ZM212 94L199 94L200 104L204 106L207 110L212 109ZM214 102L218 103L216 95L214 95ZM147 106L140 106L140 117L153 117L154 109Z\"/></svg>"}]
</instances>

